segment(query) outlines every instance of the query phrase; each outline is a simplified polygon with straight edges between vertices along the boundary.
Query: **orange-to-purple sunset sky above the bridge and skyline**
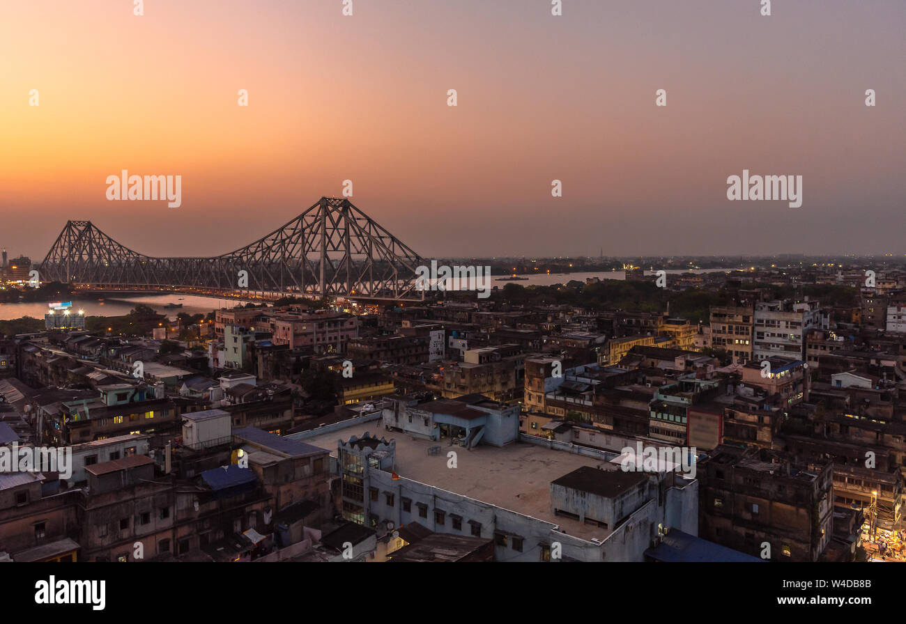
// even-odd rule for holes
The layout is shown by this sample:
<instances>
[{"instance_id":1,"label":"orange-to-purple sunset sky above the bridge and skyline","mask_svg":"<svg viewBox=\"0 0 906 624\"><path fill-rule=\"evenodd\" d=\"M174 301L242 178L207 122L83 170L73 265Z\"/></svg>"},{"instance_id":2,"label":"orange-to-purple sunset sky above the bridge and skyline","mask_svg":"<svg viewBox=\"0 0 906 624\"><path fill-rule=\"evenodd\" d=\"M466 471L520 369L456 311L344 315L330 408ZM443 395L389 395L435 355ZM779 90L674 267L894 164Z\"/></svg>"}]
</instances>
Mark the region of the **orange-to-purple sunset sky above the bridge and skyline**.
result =
<instances>
[{"instance_id":1,"label":"orange-to-purple sunset sky above the bridge and skyline","mask_svg":"<svg viewBox=\"0 0 906 624\"><path fill-rule=\"evenodd\" d=\"M906 2L563 4L4 2L0 246L40 262L85 219L220 254L348 178L425 257L906 253ZM744 168L803 205L728 201ZM182 205L108 201L121 169Z\"/></svg>"}]
</instances>

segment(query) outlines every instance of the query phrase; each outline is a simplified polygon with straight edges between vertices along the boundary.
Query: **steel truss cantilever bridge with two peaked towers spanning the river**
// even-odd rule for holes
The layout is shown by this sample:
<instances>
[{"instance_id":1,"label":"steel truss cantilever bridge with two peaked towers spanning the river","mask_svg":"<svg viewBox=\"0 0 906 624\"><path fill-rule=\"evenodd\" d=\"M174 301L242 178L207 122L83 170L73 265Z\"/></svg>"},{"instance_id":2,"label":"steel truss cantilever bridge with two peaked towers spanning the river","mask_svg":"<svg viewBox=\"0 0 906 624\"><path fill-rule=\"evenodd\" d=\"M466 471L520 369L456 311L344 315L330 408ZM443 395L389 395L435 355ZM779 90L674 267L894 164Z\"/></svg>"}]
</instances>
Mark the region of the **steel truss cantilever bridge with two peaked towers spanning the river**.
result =
<instances>
[{"instance_id":1,"label":"steel truss cantilever bridge with two peaked towers spanning the river","mask_svg":"<svg viewBox=\"0 0 906 624\"><path fill-rule=\"evenodd\" d=\"M416 269L423 264L348 199L322 197L271 234L207 258L139 254L91 221L68 221L39 276L81 290L421 301L425 292L416 288Z\"/></svg>"}]
</instances>

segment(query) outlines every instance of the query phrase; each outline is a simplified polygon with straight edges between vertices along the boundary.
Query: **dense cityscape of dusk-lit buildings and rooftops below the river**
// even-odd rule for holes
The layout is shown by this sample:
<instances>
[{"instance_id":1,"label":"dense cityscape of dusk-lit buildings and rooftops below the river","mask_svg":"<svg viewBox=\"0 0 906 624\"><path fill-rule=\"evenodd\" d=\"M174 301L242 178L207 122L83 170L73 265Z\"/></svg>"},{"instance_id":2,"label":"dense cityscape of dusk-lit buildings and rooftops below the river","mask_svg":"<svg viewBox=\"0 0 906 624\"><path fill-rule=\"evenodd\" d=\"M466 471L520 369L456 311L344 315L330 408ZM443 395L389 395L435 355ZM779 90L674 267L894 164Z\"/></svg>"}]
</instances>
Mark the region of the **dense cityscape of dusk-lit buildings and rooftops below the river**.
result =
<instances>
[{"instance_id":1,"label":"dense cityscape of dusk-lit buildings and rooftops below the river","mask_svg":"<svg viewBox=\"0 0 906 624\"><path fill-rule=\"evenodd\" d=\"M27 262L7 301L127 296ZM506 264L487 298L3 322L0 558L901 560L902 261Z\"/></svg>"}]
</instances>

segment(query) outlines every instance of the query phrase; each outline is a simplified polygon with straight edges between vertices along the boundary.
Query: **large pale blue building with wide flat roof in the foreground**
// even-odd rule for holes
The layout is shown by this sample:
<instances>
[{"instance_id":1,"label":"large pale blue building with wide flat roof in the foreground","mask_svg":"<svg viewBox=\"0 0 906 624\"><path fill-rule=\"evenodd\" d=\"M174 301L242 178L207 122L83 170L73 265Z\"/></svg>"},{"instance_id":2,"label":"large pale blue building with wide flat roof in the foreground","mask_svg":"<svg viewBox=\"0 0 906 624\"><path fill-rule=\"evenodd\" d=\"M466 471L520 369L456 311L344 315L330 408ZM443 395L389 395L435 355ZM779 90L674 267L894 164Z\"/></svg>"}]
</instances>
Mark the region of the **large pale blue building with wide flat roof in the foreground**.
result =
<instances>
[{"instance_id":1,"label":"large pale blue building with wide flat roof in the foreground","mask_svg":"<svg viewBox=\"0 0 906 624\"><path fill-rule=\"evenodd\" d=\"M429 454L429 440L375 440L362 429L348 427L322 436L313 432L305 439L337 449L337 475L349 475L349 492L356 496L348 501L350 512L379 534L388 523L398 527L415 521L435 533L493 539L495 561L641 562L665 528L697 533L698 482L674 473L648 475L660 485L652 486L651 497L618 526L605 528L554 514L551 482L580 466L622 479L622 471L610 463L616 454L583 449L580 455L568 452L570 445L554 450L548 446L556 443L540 440L502 448L477 446L467 460L459 457L454 470L448 468L448 454Z\"/></svg>"}]
</instances>

